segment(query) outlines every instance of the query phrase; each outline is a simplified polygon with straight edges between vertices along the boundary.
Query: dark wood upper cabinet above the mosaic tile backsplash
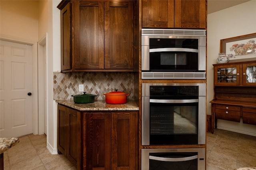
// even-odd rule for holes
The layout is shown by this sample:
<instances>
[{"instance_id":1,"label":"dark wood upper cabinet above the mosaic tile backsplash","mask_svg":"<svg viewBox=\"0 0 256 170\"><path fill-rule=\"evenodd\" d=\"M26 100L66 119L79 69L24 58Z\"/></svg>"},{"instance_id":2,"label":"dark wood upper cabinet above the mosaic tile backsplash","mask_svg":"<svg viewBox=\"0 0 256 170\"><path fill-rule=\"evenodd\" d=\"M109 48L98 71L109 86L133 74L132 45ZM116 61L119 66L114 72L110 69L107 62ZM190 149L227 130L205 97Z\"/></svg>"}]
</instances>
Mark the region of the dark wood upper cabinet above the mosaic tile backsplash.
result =
<instances>
[{"instance_id":1,"label":"dark wood upper cabinet above the mosaic tile backsplash","mask_svg":"<svg viewBox=\"0 0 256 170\"><path fill-rule=\"evenodd\" d=\"M71 6L71 27L68 15L61 18L62 72L135 71L136 4L133 0L77 0L59 5L61 14ZM66 68L66 61L72 61L71 68Z\"/></svg>"}]
</instances>

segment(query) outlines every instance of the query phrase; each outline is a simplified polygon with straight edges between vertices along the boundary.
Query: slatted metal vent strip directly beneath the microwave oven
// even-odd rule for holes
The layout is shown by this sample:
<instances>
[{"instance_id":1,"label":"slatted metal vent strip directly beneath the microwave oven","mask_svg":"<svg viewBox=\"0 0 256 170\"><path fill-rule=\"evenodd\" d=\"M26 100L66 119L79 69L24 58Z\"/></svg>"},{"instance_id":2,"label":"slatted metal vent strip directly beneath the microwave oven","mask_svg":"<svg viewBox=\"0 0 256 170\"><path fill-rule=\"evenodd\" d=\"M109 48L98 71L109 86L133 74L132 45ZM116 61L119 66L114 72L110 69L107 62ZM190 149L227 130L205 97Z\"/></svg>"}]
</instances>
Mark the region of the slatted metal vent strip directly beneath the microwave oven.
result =
<instances>
[{"instance_id":1,"label":"slatted metal vent strip directly beneath the microwave oven","mask_svg":"<svg viewBox=\"0 0 256 170\"><path fill-rule=\"evenodd\" d=\"M142 72L142 79L205 79L206 72Z\"/></svg>"}]
</instances>

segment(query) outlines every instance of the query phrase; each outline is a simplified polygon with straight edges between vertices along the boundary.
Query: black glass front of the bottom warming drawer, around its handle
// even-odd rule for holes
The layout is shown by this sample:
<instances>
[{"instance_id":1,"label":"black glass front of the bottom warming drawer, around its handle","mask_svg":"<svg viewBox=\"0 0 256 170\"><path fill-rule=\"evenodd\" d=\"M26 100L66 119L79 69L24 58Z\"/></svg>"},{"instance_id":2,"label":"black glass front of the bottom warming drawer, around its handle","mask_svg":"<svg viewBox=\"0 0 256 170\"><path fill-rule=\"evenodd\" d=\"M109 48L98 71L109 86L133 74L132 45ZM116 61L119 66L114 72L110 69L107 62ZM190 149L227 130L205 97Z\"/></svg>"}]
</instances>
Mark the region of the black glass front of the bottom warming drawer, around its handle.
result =
<instances>
[{"instance_id":1,"label":"black glass front of the bottom warming drawer, around its handle","mask_svg":"<svg viewBox=\"0 0 256 170\"><path fill-rule=\"evenodd\" d=\"M157 158L170 158L170 161L149 160L149 170L197 170L198 158L184 161L172 161L173 159L196 156L197 152L178 152L178 153L150 153L150 156Z\"/></svg>"}]
</instances>

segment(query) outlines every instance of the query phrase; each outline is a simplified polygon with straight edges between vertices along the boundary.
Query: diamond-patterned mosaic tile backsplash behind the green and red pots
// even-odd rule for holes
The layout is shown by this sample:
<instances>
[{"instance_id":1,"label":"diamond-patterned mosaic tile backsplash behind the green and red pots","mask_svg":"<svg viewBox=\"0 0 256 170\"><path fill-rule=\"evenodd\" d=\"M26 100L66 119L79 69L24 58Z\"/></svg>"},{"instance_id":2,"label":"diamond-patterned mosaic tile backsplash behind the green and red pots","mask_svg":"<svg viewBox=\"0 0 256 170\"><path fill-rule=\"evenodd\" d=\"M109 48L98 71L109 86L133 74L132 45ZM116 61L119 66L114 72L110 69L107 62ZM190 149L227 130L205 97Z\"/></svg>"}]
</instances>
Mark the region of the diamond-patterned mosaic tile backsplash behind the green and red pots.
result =
<instances>
[{"instance_id":1,"label":"diamond-patterned mosaic tile backsplash behind the green and red pots","mask_svg":"<svg viewBox=\"0 0 256 170\"><path fill-rule=\"evenodd\" d=\"M71 95L82 94L78 85L84 84L84 91L96 94L96 100L105 100L103 94L118 89L130 94L128 100L134 100L133 72L68 72L54 73L54 100L73 100Z\"/></svg>"}]
</instances>

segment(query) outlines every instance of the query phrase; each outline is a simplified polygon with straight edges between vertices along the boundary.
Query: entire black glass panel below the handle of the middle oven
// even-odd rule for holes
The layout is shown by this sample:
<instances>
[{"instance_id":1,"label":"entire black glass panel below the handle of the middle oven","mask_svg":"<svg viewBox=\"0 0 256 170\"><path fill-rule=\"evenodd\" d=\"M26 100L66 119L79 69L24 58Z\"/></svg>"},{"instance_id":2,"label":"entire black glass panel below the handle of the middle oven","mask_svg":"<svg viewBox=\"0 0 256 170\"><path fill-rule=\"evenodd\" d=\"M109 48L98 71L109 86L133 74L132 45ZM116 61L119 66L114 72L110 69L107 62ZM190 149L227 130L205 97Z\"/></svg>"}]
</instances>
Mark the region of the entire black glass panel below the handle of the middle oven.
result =
<instances>
[{"instance_id":1,"label":"entire black glass panel below the handle of the middle oven","mask_svg":"<svg viewBox=\"0 0 256 170\"><path fill-rule=\"evenodd\" d=\"M198 143L198 103L150 103L150 145Z\"/></svg>"}]
</instances>

